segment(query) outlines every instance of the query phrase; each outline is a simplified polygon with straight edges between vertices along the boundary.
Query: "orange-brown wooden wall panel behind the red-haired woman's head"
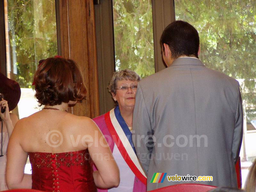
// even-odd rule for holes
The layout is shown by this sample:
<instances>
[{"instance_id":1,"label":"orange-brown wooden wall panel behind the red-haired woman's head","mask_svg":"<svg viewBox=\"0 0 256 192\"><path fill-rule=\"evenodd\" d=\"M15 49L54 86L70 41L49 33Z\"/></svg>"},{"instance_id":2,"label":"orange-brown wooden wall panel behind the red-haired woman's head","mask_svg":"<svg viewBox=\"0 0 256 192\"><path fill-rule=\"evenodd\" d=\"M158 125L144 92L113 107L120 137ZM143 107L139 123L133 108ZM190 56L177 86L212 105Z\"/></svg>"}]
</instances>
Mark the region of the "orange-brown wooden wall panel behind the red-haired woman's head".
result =
<instances>
[{"instance_id":1,"label":"orange-brown wooden wall panel behind the red-haired woman's head","mask_svg":"<svg viewBox=\"0 0 256 192\"><path fill-rule=\"evenodd\" d=\"M61 54L80 66L87 88L86 100L69 110L91 118L99 115L98 74L93 0L60 0Z\"/></svg>"}]
</instances>

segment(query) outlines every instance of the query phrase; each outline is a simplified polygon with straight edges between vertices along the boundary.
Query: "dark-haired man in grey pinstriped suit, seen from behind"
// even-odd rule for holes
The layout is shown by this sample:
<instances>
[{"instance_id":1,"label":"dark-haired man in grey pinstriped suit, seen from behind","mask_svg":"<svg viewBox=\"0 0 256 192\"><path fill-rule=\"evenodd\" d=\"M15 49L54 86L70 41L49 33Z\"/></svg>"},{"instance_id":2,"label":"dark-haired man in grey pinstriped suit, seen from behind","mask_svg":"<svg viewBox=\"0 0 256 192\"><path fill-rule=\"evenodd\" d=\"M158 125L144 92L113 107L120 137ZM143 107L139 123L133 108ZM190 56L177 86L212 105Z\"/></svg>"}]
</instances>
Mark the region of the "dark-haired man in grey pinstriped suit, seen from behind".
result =
<instances>
[{"instance_id":1,"label":"dark-haired man in grey pinstriped suit, seen from behind","mask_svg":"<svg viewBox=\"0 0 256 192\"><path fill-rule=\"evenodd\" d=\"M172 22L160 42L167 68L138 83L133 112L132 140L147 190L180 183L237 187L239 83L198 59L199 36L189 23Z\"/></svg>"}]
</instances>

